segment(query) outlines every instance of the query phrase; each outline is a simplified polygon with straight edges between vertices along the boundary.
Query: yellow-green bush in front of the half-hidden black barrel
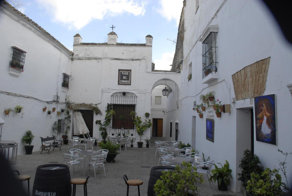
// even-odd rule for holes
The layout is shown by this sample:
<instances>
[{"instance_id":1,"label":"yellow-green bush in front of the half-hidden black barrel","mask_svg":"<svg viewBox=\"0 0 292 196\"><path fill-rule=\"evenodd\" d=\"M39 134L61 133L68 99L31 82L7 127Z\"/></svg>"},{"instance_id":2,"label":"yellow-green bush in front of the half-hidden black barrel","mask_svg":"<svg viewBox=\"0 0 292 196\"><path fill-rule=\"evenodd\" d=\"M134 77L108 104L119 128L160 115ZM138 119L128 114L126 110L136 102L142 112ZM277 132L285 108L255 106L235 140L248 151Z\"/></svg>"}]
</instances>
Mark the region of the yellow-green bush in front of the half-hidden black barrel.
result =
<instances>
[{"instance_id":1,"label":"yellow-green bush in front of the half-hidden black barrel","mask_svg":"<svg viewBox=\"0 0 292 196\"><path fill-rule=\"evenodd\" d=\"M154 185L156 195L187 196L188 191L198 191L197 183L204 183L202 174L190 163L183 162L182 167L175 166L175 171L163 171Z\"/></svg>"}]
</instances>

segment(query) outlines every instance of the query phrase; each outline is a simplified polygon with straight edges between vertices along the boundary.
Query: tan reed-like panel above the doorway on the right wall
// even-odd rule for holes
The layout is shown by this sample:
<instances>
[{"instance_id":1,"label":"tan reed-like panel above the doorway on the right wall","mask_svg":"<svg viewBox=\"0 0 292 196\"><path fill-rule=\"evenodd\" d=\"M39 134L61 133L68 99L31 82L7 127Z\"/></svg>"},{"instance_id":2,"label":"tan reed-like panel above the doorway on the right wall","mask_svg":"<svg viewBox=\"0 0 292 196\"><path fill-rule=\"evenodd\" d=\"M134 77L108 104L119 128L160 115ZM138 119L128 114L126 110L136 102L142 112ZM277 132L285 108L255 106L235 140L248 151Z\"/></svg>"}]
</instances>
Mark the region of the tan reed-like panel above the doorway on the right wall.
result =
<instances>
[{"instance_id":1,"label":"tan reed-like panel above the doorway on the right wall","mask_svg":"<svg viewBox=\"0 0 292 196\"><path fill-rule=\"evenodd\" d=\"M253 63L232 75L236 100L262 96L266 89L271 57Z\"/></svg>"}]
</instances>

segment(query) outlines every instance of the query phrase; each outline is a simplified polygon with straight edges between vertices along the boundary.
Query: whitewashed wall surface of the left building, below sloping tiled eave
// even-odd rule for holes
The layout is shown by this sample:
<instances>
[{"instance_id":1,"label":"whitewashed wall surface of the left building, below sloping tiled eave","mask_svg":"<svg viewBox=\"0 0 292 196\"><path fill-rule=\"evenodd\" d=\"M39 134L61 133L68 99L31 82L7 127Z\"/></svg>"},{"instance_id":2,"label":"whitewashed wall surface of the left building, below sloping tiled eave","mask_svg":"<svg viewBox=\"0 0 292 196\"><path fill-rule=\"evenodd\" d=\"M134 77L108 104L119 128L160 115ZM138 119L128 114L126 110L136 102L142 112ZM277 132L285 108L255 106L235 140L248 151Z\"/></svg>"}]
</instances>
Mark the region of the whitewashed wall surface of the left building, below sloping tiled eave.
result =
<instances>
[{"instance_id":1,"label":"whitewashed wall surface of the left building, below sloping tiled eave","mask_svg":"<svg viewBox=\"0 0 292 196\"><path fill-rule=\"evenodd\" d=\"M19 143L18 154L25 153L21 142L26 130L32 130L35 138L32 145L34 151L40 150L41 139L53 135L51 127L57 117L57 111L65 107L64 104L53 101L53 95L58 94L60 102L65 102L66 92L62 92L62 73L70 73L69 52L52 41L44 32L25 20L6 6L0 8L0 117L5 124L2 140L15 140ZM9 61L12 59L16 46L26 51L24 71L20 76L9 75ZM21 113L6 116L4 108L14 108L16 105L24 107ZM47 106L56 111L51 115L43 112ZM47 111L48 111L47 109Z\"/></svg>"}]
</instances>

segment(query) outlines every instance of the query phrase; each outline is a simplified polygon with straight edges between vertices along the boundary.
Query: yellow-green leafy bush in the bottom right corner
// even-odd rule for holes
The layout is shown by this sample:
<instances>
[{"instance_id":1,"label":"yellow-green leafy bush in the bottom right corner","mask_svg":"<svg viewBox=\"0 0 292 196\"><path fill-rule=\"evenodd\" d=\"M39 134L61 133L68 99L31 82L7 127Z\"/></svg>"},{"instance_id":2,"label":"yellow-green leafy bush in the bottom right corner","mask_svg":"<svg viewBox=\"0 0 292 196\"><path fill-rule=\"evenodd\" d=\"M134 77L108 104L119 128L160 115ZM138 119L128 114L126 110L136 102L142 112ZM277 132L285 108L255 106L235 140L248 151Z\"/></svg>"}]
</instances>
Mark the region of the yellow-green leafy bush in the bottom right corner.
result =
<instances>
[{"instance_id":1,"label":"yellow-green leafy bush in the bottom right corner","mask_svg":"<svg viewBox=\"0 0 292 196\"><path fill-rule=\"evenodd\" d=\"M251 173L251 179L247 181L246 195L284 195L282 188L285 189L286 184L282 182L279 170L267 168L260 174Z\"/></svg>"}]
</instances>

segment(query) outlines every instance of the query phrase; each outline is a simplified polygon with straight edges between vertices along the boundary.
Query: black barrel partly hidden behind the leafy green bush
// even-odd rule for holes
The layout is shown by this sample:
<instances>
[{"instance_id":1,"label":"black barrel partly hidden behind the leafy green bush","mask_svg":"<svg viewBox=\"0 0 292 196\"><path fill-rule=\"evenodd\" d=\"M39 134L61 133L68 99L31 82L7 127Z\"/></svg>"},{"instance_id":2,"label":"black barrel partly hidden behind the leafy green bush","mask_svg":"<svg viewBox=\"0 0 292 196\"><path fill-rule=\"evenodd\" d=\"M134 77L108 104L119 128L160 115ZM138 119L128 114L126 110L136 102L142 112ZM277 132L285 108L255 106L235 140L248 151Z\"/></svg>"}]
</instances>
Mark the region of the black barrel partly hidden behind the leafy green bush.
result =
<instances>
[{"instance_id":1,"label":"black barrel partly hidden behind the leafy green bush","mask_svg":"<svg viewBox=\"0 0 292 196\"><path fill-rule=\"evenodd\" d=\"M174 167L171 166L156 166L151 168L150 178L148 181L148 196L155 196L154 185L160 176L162 175L162 171L175 171Z\"/></svg>"}]
</instances>

